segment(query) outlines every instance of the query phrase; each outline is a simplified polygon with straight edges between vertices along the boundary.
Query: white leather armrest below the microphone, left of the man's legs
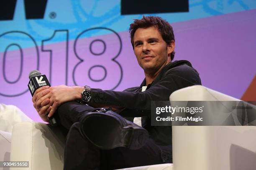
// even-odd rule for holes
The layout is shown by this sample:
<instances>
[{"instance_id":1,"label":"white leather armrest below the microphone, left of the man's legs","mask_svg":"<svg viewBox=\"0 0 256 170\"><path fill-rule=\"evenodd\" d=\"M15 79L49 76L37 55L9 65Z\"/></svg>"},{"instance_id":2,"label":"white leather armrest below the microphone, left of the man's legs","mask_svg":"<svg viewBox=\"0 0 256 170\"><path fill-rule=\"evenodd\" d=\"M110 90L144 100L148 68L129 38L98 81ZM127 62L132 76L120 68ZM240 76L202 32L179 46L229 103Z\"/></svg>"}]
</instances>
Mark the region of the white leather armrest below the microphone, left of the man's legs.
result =
<instances>
[{"instance_id":1,"label":"white leather armrest below the microphone, left of the man's legs","mask_svg":"<svg viewBox=\"0 0 256 170\"><path fill-rule=\"evenodd\" d=\"M29 168L22 168L26 170L62 170L64 141L58 127L40 122L17 123L13 126L10 161L29 161Z\"/></svg>"}]
</instances>

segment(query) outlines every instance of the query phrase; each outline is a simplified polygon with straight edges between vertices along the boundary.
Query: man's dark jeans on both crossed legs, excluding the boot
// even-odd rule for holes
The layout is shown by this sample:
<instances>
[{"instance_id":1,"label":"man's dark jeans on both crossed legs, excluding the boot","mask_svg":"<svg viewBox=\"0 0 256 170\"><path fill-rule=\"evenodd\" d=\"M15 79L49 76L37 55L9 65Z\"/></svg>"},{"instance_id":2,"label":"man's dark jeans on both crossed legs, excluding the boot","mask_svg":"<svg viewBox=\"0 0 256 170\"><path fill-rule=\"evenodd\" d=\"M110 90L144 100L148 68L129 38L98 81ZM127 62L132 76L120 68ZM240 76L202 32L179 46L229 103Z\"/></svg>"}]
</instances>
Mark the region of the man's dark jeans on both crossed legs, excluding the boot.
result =
<instances>
[{"instance_id":1,"label":"man's dark jeans on both crossed legs, excluding the boot","mask_svg":"<svg viewBox=\"0 0 256 170\"><path fill-rule=\"evenodd\" d=\"M66 138L64 170L111 170L164 163L161 157L162 151L152 139L138 150L123 147L101 150L84 139L79 131L80 120L84 114L92 110L93 107L78 102L67 102L58 108L59 126L69 130Z\"/></svg>"}]
</instances>

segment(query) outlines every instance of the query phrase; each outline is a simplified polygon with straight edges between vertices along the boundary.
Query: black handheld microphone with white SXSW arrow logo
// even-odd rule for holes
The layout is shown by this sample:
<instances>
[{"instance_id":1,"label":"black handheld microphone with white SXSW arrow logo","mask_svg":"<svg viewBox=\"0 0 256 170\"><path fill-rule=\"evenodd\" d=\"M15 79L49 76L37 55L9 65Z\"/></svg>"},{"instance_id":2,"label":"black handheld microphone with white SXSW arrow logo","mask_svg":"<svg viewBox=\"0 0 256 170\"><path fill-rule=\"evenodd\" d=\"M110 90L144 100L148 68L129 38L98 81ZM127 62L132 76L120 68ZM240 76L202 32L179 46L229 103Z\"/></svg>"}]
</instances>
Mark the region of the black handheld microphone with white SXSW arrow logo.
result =
<instances>
[{"instance_id":1,"label":"black handheld microphone with white SXSW arrow logo","mask_svg":"<svg viewBox=\"0 0 256 170\"><path fill-rule=\"evenodd\" d=\"M33 97L34 92L43 86L51 86L46 75L42 75L40 71L33 70L28 75L29 82L28 82L28 89ZM51 125L56 125L56 120L53 116L47 117Z\"/></svg>"}]
</instances>

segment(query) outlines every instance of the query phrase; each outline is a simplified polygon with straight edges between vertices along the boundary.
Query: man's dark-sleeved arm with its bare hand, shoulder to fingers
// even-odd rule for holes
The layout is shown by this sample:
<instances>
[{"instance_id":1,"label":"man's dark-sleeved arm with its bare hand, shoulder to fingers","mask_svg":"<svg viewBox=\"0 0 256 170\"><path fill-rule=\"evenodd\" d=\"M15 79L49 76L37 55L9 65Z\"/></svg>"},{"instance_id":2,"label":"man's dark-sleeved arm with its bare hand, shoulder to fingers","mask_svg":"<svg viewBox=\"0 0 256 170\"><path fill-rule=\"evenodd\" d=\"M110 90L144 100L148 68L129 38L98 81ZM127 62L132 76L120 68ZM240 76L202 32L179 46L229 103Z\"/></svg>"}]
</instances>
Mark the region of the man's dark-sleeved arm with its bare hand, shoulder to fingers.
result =
<instances>
[{"instance_id":1,"label":"man's dark-sleeved arm with its bare hand, shoulder to fingers","mask_svg":"<svg viewBox=\"0 0 256 170\"><path fill-rule=\"evenodd\" d=\"M143 110L151 109L151 101L166 101L172 92L192 85L200 85L200 78L192 67L182 65L168 70L159 80L154 80L151 87L144 92L117 92L112 90L101 90L92 88L92 100L89 105L93 107L113 107L116 110L127 108L138 111L139 116L148 115ZM36 109L39 114L46 114L49 106L52 109L49 117L53 115L57 107L67 101L81 99L84 87L59 86L50 87L51 92L43 96L44 91L38 93L40 99L36 99ZM42 97L43 96L43 97ZM48 99L49 98L49 101ZM49 103L49 104L48 104ZM125 115L128 116L128 115ZM134 115L133 115L134 116Z\"/></svg>"}]
</instances>

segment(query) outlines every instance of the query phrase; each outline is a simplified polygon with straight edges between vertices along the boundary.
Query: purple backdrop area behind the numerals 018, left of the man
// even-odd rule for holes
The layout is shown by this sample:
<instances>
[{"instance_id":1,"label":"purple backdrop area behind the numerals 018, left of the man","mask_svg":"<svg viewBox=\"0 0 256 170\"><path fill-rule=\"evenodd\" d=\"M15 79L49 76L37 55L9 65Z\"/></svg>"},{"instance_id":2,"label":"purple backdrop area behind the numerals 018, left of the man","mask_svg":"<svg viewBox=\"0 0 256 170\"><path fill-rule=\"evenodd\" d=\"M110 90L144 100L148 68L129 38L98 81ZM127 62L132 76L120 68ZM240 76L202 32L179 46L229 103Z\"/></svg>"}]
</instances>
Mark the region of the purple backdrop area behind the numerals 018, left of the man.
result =
<instances>
[{"instance_id":1,"label":"purple backdrop area behind the numerals 018, left of the man","mask_svg":"<svg viewBox=\"0 0 256 170\"><path fill-rule=\"evenodd\" d=\"M45 74L51 85L89 85L106 90L124 90L140 85L144 75L138 66L128 32L119 35L110 33L90 38L79 38L77 41L53 43L36 48L23 49L23 71L20 79L10 84L0 77L0 102L18 106L31 119L41 121L33 108L28 89L28 74L38 69ZM3 61L4 53L0 53ZM20 72L19 50L8 51L5 68L6 77L16 78ZM37 67L37 61L39 68ZM3 75L3 69L0 69ZM14 78L13 78L14 77ZM9 78L9 79L10 79ZM16 78L17 79L17 78ZM13 81L13 80L10 80ZM24 94L21 94L24 92Z\"/></svg>"}]
</instances>

